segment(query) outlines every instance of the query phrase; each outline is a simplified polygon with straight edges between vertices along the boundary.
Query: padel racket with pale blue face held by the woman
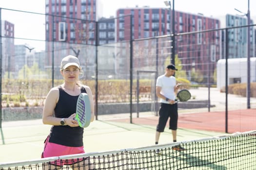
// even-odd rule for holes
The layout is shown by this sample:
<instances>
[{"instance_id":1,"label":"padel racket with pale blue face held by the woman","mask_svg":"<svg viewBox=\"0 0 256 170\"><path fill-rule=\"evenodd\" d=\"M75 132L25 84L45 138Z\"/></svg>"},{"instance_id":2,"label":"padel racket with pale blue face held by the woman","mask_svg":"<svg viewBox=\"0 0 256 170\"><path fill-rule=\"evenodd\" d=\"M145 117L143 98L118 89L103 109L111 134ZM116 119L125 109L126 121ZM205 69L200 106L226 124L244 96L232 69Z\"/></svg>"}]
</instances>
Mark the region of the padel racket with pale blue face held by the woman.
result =
<instances>
[{"instance_id":1,"label":"padel racket with pale blue face held by the woman","mask_svg":"<svg viewBox=\"0 0 256 170\"><path fill-rule=\"evenodd\" d=\"M90 100L86 93L81 93L78 97L75 119L82 128L89 126L91 122Z\"/></svg>"}]
</instances>

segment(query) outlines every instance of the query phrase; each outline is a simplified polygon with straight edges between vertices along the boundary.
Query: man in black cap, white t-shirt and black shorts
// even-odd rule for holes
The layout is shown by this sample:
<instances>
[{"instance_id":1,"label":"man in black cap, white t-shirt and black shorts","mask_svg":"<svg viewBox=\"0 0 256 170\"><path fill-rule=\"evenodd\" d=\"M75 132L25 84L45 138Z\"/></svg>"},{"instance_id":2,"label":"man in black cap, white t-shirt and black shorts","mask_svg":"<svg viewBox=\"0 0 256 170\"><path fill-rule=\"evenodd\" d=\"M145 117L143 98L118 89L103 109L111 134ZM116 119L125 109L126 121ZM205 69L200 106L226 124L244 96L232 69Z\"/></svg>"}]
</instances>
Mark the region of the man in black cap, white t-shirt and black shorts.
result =
<instances>
[{"instance_id":1,"label":"man in black cap, white t-shirt and black shorts","mask_svg":"<svg viewBox=\"0 0 256 170\"><path fill-rule=\"evenodd\" d=\"M160 133L164 131L167 120L169 120L169 129L172 130L173 141L177 142L177 102L175 101L179 85L176 84L175 65L171 64L165 68L165 74L157 79L157 96L160 98L159 119L156 132L156 144L158 144ZM184 148L177 145L174 150L183 151Z\"/></svg>"}]
</instances>

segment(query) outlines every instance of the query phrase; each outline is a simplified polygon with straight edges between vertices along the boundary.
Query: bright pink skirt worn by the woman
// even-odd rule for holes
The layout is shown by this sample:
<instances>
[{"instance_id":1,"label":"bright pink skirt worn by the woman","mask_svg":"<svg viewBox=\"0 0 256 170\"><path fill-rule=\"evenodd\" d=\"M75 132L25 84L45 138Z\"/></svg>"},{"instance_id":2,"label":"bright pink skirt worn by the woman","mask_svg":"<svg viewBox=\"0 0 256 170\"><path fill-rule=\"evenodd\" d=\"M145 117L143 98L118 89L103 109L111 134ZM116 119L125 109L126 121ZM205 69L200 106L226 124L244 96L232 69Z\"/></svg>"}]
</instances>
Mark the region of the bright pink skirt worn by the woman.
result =
<instances>
[{"instance_id":1,"label":"bright pink skirt worn by the woman","mask_svg":"<svg viewBox=\"0 0 256 170\"><path fill-rule=\"evenodd\" d=\"M43 150L43 153L41 154L41 158L85 153L83 146L69 147L69 146L59 145L56 143L51 143L51 142L49 142L49 137L50 136L47 136L47 138L45 140L44 150ZM72 164L78 163L83 160L84 160L84 158L65 159L65 160L59 159L59 160L50 162L50 164L57 165L57 166L72 165Z\"/></svg>"}]
</instances>

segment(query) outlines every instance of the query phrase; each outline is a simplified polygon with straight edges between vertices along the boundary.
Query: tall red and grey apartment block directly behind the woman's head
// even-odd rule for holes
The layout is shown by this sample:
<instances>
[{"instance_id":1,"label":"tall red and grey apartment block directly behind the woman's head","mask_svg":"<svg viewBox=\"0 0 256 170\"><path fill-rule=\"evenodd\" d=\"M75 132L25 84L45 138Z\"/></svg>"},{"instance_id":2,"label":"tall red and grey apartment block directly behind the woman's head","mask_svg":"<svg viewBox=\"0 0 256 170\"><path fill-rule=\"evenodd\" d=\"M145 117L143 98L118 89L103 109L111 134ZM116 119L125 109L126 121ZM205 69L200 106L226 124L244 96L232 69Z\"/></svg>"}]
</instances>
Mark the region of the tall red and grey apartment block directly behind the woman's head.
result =
<instances>
[{"instance_id":1,"label":"tall red and grey apartment block directly behind the woman's head","mask_svg":"<svg viewBox=\"0 0 256 170\"><path fill-rule=\"evenodd\" d=\"M80 54L86 56L80 59L82 68L86 72L93 71L95 58L90 57L90 54L95 51L96 21L101 11L99 2L100 0L45 0L45 68L55 67L58 70L59 62L65 55L79 57ZM55 77L58 76L56 74Z\"/></svg>"}]
</instances>

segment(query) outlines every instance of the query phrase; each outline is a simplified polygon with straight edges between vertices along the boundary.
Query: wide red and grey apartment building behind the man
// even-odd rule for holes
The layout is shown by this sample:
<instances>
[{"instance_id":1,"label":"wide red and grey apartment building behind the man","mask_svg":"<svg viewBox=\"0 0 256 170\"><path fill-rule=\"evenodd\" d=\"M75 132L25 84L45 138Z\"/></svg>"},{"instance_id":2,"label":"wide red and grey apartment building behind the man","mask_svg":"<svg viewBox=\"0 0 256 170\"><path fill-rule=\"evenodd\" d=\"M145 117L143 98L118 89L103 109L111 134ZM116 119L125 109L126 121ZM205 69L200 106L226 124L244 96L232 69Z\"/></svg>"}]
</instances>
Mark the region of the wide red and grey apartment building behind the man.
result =
<instances>
[{"instance_id":1,"label":"wide red and grey apartment building behind the man","mask_svg":"<svg viewBox=\"0 0 256 170\"><path fill-rule=\"evenodd\" d=\"M117 17L117 42L127 41L132 39L148 38L172 33L171 20L172 11L162 8L122 8L118 9ZM132 16L132 20L129 15ZM128 16L128 17L127 17ZM171 21L171 23L170 23ZM132 22L132 23L131 23ZM187 32L199 32L203 30L214 30L220 28L220 21L213 17L205 17L202 14L190 14L180 11L175 11L175 34ZM132 25L132 27L131 27ZM130 30L132 29L132 35ZM143 45L144 49L152 49L156 46L149 44ZM171 55L171 43L160 43L158 49L168 49L168 51L158 51L158 65L164 64L165 58ZM205 50L208 49L208 50ZM176 36L175 54L181 60L183 69L191 70L192 68L207 71L209 63L212 66L212 72L216 67L216 61L221 58L221 33L220 31L212 31L207 33L187 34ZM125 52L127 53L127 52ZM146 54L145 56L152 55ZM129 62L129 57L125 57L126 63ZM138 67L150 68L156 65L155 60L141 61ZM149 60L144 57L144 60ZM143 66L143 63L145 65ZM134 62L137 66L137 62ZM129 69L129 68L127 68Z\"/></svg>"}]
</instances>

